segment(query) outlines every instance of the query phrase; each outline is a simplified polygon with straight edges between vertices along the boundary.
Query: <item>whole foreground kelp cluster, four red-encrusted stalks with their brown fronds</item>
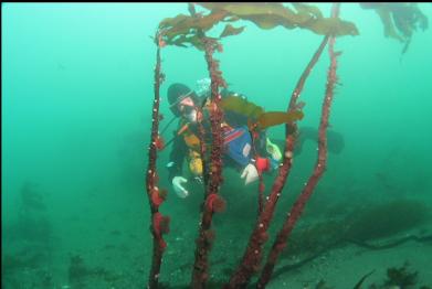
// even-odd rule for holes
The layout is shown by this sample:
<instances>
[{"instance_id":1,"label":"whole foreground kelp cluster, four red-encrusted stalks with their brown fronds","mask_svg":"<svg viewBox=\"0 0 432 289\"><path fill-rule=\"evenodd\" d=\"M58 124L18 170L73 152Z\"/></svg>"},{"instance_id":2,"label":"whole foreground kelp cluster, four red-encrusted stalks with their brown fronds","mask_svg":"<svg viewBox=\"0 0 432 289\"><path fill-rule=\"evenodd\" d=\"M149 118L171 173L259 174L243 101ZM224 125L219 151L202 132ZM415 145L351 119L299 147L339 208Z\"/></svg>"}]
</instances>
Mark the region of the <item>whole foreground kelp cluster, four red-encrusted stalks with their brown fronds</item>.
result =
<instances>
[{"instance_id":1,"label":"whole foreground kelp cluster, four red-encrusted stalks with their brown fronds","mask_svg":"<svg viewBox=\"0 0 432 289\"><path fill-rule=\"evenodd\" d=\"M168 218L160 215L158 206L162 202L159 193L155 193L157 189L156 174L156 153L158 147L161 147L161 141L158 139L158 111L159 111L159 86L162 79L160 73L160 47L165 45L177 45L181 47L194 46L204 52L204 57L208 64L208 69L211 78L211 105L210 105L210 124L212 146L210 157L206 159L206 146L201 141L201 158L204 161L204 185L206 194L201 205L202 216L200 222L199 234L197 238L196 261L192 269L191 287L204 288L209 281L209 263L208 257L211 246L215 240L215 233L211 228L212 216L214 213L223 210L225 203L218 195L222 179L222 133L221 122L223 121L223 109L244 110L254 117L254 121L250 122L250 129L265 129L271 126L285 124L285 150L283 162L281 163L277 176L273 183L272 190L266 200L261 202L259 216L255 227L251 234L249 244L240 261L239 267L231 276L225 288L245 288L251 280L253 274L261 270L261 261L263 258L263 245L268 239L267 228L272 222L273 213L277 200L281 196L282 190L286 183L287 176L292 169L294 158L294 143L297 137L297 122L303 117L301 104L297 101L304 88L305 82L312 72L312 68L317 63L325 45L329 42L330 67L327 74L327 86L324 96L322 108L319 136L318 136L318 156L314 172L309 176L303 192L294 203L291 212L287 212L287 218L284 227L274 240L273 248L267 257L267 263L261 272L257 282L259 288L266 286L271 279L273 266L277 260L278 254L286 245L286 240L291 235L296 222L308 202L316 184L324 174L327 160L327 143L326 131L328 127L328 118L330 114L330 105L334 96L335 84L337 84L336 67L338 52L334 52L335 38L340 35L357 35L357 28L352 22L343 21L338 18L339 4L335 4L331 9L330 18L324 18L318 8L308 4L292 4L294 9L289 9L281 3L200 3L201 7L209 9L210 13L196 12L194 4L189 4L191 15L180 14L175 18L168 18L161 21L158 28L158 33L155 43L158 46L157 51L157 68L155 69L155 103L154 103L154 124L151 129L151 142L149 152L149 169L147 171L147 192L152 213L151 232L154 234L154 264L150 272L150 288L157 288L157 278L160 269L160 257L164 251L165 242L161 238L164 233L168 232ZM232 103L226 103L223 107L219 88L225 87L225 82L222 78L222 73L219 69L219 62L213 58L213 52L217 50L222 52L222 45L219 41L225 36L234 36L243 33L244 26L234 28L232 23L239 20L252 21L261 29L273 29L282 25L286 29L302 28L313 31L316 34L325 35L319 47L312 57L309 64L303 72L294 92L291 95L291 100L286 113L270 111L263 113L257 106L242 107ZM221 22L230 22L225 24L224 30L219 38L210 38L206 33ZM200 136L203 136L202 127L200 127ZM159 146L160 144L160 146ZM262 183L261 183L262 184ZM260 185L259 197L263 197L264 188ZM164 195L164 194L162 194ZM154 196L154 197L151 197ZM200 208L197 208L199 212ZM156 249L155 249L156 248ZM151 279L152 278L152 279Z\"/></svg>"}]
</instances>

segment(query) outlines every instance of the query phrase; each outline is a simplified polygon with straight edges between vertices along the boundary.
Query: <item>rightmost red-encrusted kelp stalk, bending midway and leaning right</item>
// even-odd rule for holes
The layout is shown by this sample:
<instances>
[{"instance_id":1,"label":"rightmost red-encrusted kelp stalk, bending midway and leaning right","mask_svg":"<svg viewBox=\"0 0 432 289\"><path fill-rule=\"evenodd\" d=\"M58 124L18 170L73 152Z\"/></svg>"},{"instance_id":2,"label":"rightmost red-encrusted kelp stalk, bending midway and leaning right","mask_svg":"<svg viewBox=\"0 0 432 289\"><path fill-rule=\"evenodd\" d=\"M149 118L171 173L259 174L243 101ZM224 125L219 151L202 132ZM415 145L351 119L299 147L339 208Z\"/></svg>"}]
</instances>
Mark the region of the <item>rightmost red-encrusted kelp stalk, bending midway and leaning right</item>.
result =
<instances>
[{"instance_id":1,"label":"rightmost red-encrusted kelp stalk, bending midway and leaning right","mask_svg":"<svg viewBox=\"0 0 432 289\"><path fill-rule=\"evenodd\" d=\"M331 17L336 18L339 14L339 4L335 3L331 8ZM334 98L335 84L337 82L336 68L337 68L337 56L339 52L334 51L336 36L331 35L328 44L328 52L330 55L330 66L327 73L327 84L326 93L323 101L322 117L318 131L318 159L314 168L313 174L309 176L305 188L303 189L302 194L297 197L294 203L291 212L287 214L287 218L278 232L275 242L273 243L272 249L268 254L267 261L262 270L261 277L257 281L257 288L264 288L270 281L274 266L277 261L277 258L284 247L286 246L286 240L289 237L291 233L294 229L296 222L303 213L303 210L313 194L318 181L320 180L327 163L327 127L328 118L330 114L330 106Z\"/></svg>"}]
</instances>

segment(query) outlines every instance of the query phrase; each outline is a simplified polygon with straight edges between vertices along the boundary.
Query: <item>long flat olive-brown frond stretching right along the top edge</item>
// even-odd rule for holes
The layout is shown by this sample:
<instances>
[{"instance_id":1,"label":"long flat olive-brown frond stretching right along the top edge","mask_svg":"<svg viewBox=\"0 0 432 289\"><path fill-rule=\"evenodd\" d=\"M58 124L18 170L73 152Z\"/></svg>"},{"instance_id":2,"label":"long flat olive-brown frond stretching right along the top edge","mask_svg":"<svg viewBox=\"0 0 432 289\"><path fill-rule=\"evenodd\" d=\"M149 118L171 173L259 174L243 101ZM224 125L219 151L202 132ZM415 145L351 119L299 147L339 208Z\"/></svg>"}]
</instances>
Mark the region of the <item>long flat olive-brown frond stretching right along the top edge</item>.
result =
<instances>
[{"instance_id":1,"label":"long flat olive-brown frond stretching right along the top edge","mask_svg":"<svg viewBox=\"0 0 432 289\"><path fill-rule=\"evenodd\" d=\"M215 11L224 11L229 15L249 20L261 29L273 29L282 25L286 29L303 28L317 34L358 35L352 22L340 19L323 18L320 10L308 4L293 4L293 9L282 3L199 3Z\"/></svg>"}]
</instances>

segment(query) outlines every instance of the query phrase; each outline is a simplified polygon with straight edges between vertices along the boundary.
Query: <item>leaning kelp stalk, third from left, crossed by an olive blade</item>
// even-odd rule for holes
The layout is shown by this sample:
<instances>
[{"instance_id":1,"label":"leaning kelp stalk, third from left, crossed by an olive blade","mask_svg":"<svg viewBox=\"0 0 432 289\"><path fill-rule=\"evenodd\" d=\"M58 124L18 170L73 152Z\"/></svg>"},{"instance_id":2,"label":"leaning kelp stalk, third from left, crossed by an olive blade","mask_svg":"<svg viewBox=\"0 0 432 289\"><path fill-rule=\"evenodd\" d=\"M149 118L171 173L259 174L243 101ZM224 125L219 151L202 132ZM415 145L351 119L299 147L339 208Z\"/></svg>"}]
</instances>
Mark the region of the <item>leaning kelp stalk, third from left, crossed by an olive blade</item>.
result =
<instances>
[{"instance_id":1,"label":"leaning kelp stalk, third from left, crossed by an olive blade","mask_svg":"<svg viewBox=\"0 0 432 289\"><path fill-rule=\"evenodd\" d=\"M319 56L322 55L323 50L327 44L327 41L328 36L325 36L317 51L314 53L314 56L309 61L308 65L306 66L305 71L303 72L301 78L298 79L297 85L291 95L287 111L293 111L296 109L296 104L305 85L305 82L315 64L318 62ZM295 122L292 122L291 125L286 126L295 127ZM260 264L262 260L262 246L268 238L267 229L270 223L272 222L276 203L281 196L281 192L285 185L286 179L292 168L295 137L294 133L288 133L288 131L293 131L293 129L286 129L284 159L278 169L277 178L273 184L272 192L267 196L264 210L261 212L259 221L255 224L254 231L249 239L249 244L246 247L246 251L243 255L243 259L235 272L232 275L229 283L225 285L225 288L245 287L250 282L252 275L256 272L260 268Z\"/></svg>"}]
</instances>

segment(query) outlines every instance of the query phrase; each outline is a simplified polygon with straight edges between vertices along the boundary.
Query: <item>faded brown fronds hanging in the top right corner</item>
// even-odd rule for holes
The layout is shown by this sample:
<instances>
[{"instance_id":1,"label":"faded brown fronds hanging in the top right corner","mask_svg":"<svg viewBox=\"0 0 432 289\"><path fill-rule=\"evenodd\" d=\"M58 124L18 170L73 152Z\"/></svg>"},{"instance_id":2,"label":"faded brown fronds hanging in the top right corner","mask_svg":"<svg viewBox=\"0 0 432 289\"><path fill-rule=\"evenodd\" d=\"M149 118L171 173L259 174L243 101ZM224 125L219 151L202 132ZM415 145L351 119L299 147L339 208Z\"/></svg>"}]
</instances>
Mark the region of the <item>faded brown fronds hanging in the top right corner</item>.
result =
<instances>
[{"instance_id":1,"label":"faded brown fronds hanging in the top right corner","mask_svg":"<svg viewBox=\"0 0 432 289\"><path fill-rule=\"evenodd\" d=\"M360 7L378 13L387 38L409 42L418 26L428 29L428 18L415 3L360 3Z\"/></svg>"}]
</instances>

